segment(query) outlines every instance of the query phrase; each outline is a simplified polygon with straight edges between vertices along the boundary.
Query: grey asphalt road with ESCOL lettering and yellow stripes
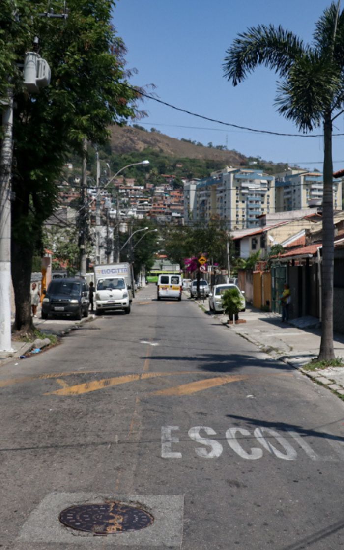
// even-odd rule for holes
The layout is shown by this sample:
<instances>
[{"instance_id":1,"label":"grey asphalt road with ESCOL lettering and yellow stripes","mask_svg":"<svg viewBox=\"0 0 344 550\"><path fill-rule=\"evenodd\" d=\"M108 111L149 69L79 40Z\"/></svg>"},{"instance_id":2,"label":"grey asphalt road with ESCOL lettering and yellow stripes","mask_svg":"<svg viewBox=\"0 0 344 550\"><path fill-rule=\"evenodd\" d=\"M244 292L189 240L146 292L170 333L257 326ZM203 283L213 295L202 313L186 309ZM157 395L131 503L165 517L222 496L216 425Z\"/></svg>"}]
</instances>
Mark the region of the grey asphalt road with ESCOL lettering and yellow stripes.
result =
<instances>
[{"instance_id":1,"label":"grey asphalt road with ESCOL lettering and yellow stripes","mask_svg":"<svg viewBox=\"0 0 344 550\"><path fill-rule=\"evenodd\" d=\"M155 296L1 368L0 548L344 547L343 402ZM154 522L95 536L58 520L106 500Z\"/></svg>"}]
</instances>

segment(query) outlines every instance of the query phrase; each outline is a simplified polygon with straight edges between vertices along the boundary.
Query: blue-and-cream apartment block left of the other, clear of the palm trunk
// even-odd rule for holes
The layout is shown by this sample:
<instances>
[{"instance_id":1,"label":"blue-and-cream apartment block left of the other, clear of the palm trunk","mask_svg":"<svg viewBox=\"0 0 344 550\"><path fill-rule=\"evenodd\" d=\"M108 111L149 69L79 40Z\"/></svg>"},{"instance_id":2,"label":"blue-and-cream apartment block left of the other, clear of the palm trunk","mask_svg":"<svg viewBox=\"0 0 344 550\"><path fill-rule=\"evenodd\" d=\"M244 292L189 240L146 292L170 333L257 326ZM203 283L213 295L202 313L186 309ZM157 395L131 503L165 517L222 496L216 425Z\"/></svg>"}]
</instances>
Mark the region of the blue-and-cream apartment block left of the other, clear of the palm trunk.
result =
<instances>
[{"instance_id":1,"label":"blue-and-cream apartment block left of the other, clear of the palm trunk","mask_svg":"<svg viewBox=\"0 0 344 550\"><path fill-rule=\"evenodd\" d=\"M229 168L184 184L184 217L225 220L227 229L259 226L257 216L275 211L275 178L260 170Z\"/></svg>"}]
</instances>

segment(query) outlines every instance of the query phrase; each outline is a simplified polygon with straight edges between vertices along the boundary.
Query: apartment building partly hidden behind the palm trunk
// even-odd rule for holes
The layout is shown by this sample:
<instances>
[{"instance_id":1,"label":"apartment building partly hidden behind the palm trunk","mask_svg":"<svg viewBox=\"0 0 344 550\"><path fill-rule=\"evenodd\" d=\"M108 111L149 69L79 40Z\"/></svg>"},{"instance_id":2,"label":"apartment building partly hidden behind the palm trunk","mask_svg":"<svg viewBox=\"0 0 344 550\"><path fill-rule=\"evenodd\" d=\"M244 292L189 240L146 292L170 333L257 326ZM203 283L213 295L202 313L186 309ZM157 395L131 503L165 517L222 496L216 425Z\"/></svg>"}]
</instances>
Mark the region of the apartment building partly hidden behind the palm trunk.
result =
<instances>
[{"instance_id":1,"label":"apartment building partly hidden behind the palm trunk","mask_svg":"<svg viewBox=\"0 0 344 550\"><path fill-rule=\"evenodd\" d=\"M290 169L275 175L276 212L299 210L323 203L324 179L320 172ZM342 209L342 180L333 180L333 204Z\"/></svg>"}]
</instances>

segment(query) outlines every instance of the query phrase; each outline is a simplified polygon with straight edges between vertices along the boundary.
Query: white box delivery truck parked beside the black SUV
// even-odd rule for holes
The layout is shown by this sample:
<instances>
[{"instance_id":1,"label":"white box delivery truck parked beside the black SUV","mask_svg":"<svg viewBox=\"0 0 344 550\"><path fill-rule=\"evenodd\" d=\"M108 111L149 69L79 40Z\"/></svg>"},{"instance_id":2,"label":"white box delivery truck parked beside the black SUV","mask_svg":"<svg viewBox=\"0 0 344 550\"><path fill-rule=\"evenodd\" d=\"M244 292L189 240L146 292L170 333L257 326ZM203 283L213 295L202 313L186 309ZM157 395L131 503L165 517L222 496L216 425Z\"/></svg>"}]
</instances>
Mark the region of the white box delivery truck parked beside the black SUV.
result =
<instances>
[{"instance_id":1,"label":"white box delivery truck parked beside the black SUV","mask_svg":"<svg viewBox=\"0 0 344 550\"><path fill-rule=\"evenodd\" d=\"M106 263L94 266L96 315L107 310L130 313L134 297L133 270L130 263Z\"/></svg>"}]
</instances>

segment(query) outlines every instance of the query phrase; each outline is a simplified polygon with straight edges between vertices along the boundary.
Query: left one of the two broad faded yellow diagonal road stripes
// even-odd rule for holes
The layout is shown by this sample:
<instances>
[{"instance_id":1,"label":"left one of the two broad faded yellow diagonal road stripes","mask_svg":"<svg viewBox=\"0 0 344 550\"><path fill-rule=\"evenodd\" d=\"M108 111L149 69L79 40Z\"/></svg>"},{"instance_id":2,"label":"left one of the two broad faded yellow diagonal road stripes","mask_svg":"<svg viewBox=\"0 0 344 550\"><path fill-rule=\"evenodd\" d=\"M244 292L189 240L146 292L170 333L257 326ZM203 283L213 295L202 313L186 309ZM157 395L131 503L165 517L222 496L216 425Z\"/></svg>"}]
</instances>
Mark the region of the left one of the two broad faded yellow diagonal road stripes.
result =
<instances>
[{"instance_id":1,"label":"left one of the two broad faded yellow diagonal road stripes","mask_svg":"<svg viewBox=\"0 0 344 550\"><path fill-rule=\"evenodd\" d=\"M135 382L137 380L156 378L160 376L176 376L179 374L192 374L192 372L143 372L137 375L102 378L101 380L94 380L92 382L85 382L83 384L75 384L75 386L68 386L67 388L57 389L54 392L48 392L44 395L80 395L83 393L96 392L97 390L103 388L110 388L111 386L119 386L119 384Z\"/></svg>"}]
</instances>

